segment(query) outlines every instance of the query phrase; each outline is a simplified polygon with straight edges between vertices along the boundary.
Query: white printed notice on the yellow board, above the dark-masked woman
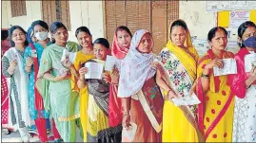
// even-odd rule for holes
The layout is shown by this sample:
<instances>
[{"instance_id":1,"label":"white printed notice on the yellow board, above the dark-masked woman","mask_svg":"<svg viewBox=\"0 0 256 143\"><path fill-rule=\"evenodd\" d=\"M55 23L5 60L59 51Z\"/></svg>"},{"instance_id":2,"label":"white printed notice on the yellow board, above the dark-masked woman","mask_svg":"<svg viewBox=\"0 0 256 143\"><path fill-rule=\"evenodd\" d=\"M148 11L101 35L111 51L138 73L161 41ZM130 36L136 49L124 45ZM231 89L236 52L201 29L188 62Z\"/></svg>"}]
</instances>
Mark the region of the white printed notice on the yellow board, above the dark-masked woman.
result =
<instances>
[{"instance_id":1,"label":"white printed notice on the yellow board, above the dark-masked woman","mask_svg":"<svg viewBox=\"0 0 256 143\"><path fill-rule=\"evenodd\" d=\"M242 23L249 20L249 11L230 11L229 27L238 28Z\"/></svg>"}]
</instances>

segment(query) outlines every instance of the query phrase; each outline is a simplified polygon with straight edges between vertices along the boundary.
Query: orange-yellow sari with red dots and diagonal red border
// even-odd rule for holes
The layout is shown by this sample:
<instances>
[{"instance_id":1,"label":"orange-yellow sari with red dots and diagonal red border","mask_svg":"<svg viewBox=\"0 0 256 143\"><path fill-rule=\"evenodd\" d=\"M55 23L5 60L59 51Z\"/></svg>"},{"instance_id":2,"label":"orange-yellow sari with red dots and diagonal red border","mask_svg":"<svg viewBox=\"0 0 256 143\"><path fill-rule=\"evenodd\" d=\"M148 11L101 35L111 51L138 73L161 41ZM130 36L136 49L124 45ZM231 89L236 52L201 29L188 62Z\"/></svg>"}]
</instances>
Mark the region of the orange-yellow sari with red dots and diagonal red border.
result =
<instances>
[{"instance_id":1,"label":"orange-yellow sari with red dots and diagonal red border","mask_svg":"<svg viewBox=\"0 0 256 143\"><path fill-rule=\"evenodd\" d=\"M224 51L222 59L234 58L233 53ZM214 59L210 50L199 60L197 68L199 105L199 124L204 130L206 142L232 142L232 126L234 114L234 98L227 85L227 76L209 76L209 90L203 93L201 75L204 66Z\"/></svg>"}]
</instances>

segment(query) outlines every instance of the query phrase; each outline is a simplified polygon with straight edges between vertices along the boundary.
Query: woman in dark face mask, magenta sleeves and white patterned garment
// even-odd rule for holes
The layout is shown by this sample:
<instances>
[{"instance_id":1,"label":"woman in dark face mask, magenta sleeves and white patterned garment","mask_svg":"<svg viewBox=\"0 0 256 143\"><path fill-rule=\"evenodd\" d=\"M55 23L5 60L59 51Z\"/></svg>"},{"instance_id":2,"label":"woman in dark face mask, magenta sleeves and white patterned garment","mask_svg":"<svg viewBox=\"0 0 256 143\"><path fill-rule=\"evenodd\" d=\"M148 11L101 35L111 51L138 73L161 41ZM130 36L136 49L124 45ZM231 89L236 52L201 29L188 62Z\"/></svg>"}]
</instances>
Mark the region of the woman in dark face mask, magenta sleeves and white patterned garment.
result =
<instances>
[{"instance_id":1,"label":"woman in dark face mask, magenta sleeves and white patterned garment","mask_svg":"<svg viewBox=\"0 0 256 143\"><path fill-rule=\"evenodd\" d=\"M246 72L246 55L256 55L256 26L246 21L238 27L240 51L235 55L237 74L232 75L232 91L235 93L233 142L256 141L256 63ZM254 59L256 61L256 58Z\"/></svg>"}]
</instances>

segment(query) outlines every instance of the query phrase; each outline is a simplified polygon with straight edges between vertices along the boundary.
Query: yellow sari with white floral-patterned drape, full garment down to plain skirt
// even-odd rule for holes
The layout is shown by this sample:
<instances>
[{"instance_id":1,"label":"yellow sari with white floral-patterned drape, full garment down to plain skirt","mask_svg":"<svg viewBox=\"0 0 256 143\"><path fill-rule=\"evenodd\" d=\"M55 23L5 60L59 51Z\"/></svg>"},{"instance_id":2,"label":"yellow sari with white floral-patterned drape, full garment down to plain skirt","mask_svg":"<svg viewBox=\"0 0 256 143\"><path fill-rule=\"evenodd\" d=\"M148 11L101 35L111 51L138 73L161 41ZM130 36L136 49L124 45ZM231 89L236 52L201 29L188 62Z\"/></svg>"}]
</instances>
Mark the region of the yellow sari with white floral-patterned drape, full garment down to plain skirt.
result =
<instances>
[{"instance_id":1,"label":"yellow sari with white floral-patterned drape, full garment down to plain skirt","mask_svg":"<svg viewBox=\"0 0 256 143\"><path fill-rule=\"evenodd\" d=\"M183 78L174 78L171 76L178 73L184 73L190 79L190 89L194 80L196 80L196 64L198 54L190 41L190 35L187 31L187 50L174 45L170 40L167 42L167 47L160 52L160 64L157 68L160 70L162 77L167 84L175 89L177 84L182 82ZM172 58L170 58L172 55ZM168 64L169 63L169 64ZM176 63L181 63L181 67L175 67ZM170 66L170 68L169 68ZM176 69L179 68L179 69ZM182 94L178 92L178 94ZM176 92L177 93L177 92ZM167 92L164 92L167 95ZM175 106L173 102L165 100L163 114L163 142L198 142L204 138L199 131L196 120L196 106Z\"/></svg>"}]
</instances>

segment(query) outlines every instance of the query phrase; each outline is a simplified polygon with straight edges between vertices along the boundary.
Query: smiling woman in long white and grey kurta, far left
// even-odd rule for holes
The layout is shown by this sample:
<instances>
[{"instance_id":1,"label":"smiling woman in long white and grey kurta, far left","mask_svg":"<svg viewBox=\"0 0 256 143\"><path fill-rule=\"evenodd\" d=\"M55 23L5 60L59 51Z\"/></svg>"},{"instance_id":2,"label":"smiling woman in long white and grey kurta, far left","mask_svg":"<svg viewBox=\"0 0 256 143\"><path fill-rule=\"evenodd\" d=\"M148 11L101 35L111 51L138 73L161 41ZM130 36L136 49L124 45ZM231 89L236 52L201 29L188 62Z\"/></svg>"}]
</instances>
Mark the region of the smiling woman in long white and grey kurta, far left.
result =
<instances>
[{"instance_id":1,"label":"smiling woman in long white and grey kurta, far left","mask_svg":"<svg viewBox=\"0 0 256 143\"><path fill-rule=\"evenodd\" d=\"M2 57L3 75L10 91L9 124L17 124L23 142L29 142L28 126L31 125L28 75L22 69L25 47L28 46L26 31L19 26L10 27L10 49Z\"/></svg>"}]
</instances>

